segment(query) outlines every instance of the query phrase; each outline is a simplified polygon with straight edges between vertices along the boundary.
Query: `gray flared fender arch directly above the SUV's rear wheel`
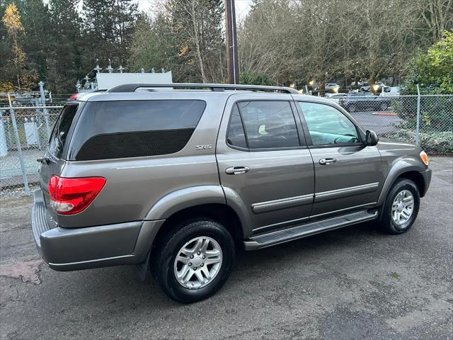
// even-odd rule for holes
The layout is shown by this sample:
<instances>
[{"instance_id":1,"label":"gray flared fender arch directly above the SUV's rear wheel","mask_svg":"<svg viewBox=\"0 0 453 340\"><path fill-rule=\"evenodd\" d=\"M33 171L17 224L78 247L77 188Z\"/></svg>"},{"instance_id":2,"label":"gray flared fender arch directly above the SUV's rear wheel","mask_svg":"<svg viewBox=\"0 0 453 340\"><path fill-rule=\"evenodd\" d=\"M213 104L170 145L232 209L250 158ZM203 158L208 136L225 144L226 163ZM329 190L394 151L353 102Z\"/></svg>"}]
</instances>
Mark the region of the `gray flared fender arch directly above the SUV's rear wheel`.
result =
<instances>
[{"instance_id":1,"label":"gray flared fender arch directly above the SUV's rear wheel","mask_svg":"<svg viewBox=\"0 0 453 340\"><path fill-rule=\"evenodd\" d=\"M190 186L168 193L158 200L144 220L165 220L185 208L212 203L226 204L221 186Z\"/></svg>"}]
</instances>

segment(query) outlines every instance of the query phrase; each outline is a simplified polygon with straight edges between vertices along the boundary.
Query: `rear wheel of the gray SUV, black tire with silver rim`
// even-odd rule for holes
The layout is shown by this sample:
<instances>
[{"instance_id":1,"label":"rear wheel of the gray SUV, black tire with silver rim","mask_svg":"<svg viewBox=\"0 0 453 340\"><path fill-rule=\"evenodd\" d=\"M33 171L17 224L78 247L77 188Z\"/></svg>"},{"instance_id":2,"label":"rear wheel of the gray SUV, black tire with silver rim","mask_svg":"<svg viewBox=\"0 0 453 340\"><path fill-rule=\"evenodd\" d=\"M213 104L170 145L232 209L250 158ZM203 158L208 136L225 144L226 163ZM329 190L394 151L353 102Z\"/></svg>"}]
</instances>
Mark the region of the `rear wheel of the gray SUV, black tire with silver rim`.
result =
<instances>
[{"instance_id":1,"label":"rear wheel of the gray SUV, black tire with silver rim","mask_svg":"<svg viewBox=\"0 0 453 340\"><path fill-rule=\"evenodd\" d=\"M205 242L205 240L208 242L205 252L202 252L202 249L200 249L200 253L196 251L199 239L202 240L201 242ZM154 252L156 256L151 272L154 273L154 277L164 293L176 302L191 303L210 297L222 288L231 273L235 258L234 241L225 227L218 222L207 219L183 222L160 243L161 246ZM185 254L180 252L183 248ZM189 248L195 249L193 255L187 252ZM218 250L220 250L219 256L212 257L214 253L218 254L215 252ZM180 254L178 259L184 258L187 263L176 261L178 254ZM188 259L185 259L185 256ZM195 257L190 258L190 256ZM219 266L217 263L204 266L204 261L217 261L218 258L220 259ZM214 270L214 266L217 266L217 270ZM185 285L180 283L183 278L178 280L176 276L177 273L184 272L187 273L184 278L190 276L190 280ZM198 278L200 275L205 280L203 285L200 284ZM212 278L208 280L207 275Z\"/></svg>"}]
</instances>

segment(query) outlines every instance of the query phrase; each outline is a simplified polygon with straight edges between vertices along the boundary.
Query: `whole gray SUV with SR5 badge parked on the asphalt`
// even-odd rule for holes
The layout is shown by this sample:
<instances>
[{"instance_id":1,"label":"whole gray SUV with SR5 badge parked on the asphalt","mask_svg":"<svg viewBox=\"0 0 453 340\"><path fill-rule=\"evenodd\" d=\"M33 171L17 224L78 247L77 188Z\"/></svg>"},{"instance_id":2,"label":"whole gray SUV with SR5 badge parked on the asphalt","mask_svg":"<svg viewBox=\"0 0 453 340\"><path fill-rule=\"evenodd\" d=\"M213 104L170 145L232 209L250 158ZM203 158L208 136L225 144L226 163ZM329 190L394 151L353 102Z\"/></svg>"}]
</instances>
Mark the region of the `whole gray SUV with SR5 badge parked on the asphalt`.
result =
<instances>
[{"instance_id":1,"label":"whole gray SUV with SR5 badge parked on the asphalt","mask_svg":"<svg viewBox=\"0 0 453 340\"><path fill-rule=\"evenodd\" d=\"M235 251L375 221L406 232L430 184L420 147L379 140L294 89L124 84L64 106L32 229L56 271L137 264L171 299L229 277Z\"/></svg>"}]
</instances>

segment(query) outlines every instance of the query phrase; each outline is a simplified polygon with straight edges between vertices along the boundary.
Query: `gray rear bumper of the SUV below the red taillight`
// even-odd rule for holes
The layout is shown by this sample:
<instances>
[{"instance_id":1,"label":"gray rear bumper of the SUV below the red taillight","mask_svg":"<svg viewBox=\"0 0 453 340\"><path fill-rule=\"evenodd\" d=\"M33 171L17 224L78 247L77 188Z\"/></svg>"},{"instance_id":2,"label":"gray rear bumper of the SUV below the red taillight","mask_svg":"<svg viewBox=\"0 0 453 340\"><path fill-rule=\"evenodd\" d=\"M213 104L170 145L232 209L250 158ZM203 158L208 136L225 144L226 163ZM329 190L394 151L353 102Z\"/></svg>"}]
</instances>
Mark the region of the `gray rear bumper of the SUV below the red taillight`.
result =
<instances>
[{"instance_id":1,"label":"gray rear bumper of the SUV below the red taillight","mask_svg":"<svg viewBox=\"0 0 453 340\"><path fill-rule=\"evenodd\" d=\"M97 227L51 225L40 191L35 192L31 227L38 252L56 271L141 263L164 220L138 221Z\"/></svg>"}]
</instances>

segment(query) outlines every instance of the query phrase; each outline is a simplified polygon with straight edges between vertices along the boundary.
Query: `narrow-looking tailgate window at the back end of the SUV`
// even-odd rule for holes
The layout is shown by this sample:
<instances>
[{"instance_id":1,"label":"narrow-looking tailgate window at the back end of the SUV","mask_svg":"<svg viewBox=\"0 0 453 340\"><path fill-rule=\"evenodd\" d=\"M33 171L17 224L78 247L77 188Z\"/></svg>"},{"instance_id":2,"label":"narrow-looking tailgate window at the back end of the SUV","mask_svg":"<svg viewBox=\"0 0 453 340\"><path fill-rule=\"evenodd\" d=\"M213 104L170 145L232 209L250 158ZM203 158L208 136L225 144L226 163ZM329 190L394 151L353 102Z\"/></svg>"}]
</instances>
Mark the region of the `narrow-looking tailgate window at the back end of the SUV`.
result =
<instances>
[{"instance_id":1,"label":"narrow-looking tailgate window at the back end of the SUV","mask_svg":"<svg viewBox=\"0 0 453 340\"><path fill-rule=\"evenodd\" d=\"M63 148L66 144L69 128L71 128L77 108L79 108L78 104L64 106L57 123L55 123L49 140L49 152L57 158L62 158Z\"/></svg>"}]
</instances>

